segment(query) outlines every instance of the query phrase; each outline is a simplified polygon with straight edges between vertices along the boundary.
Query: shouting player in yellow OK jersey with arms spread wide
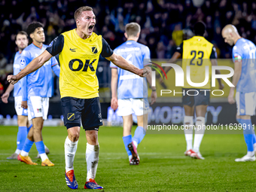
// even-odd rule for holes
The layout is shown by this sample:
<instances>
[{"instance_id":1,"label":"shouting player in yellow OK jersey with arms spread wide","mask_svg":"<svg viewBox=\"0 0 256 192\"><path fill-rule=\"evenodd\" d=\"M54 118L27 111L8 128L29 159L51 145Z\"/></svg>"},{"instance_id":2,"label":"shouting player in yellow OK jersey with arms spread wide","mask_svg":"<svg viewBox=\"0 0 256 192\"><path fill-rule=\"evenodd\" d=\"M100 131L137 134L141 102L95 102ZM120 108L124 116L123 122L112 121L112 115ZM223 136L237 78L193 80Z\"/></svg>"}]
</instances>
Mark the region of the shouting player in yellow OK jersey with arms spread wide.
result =
<instances>
[{"instance_id":1,"label":"shouting player in yellow OK jersey with arms spread wide","mask_svg":"<svg viewBox=\"0 0 256 192\"><path fill-rule=\"evenodd\" d=\"M75 11L75 22L76 29L64 32L55 38L49 47L18 75L9 75L8 81L15 84L29 73L44 66L44 62L59 53L59 90L64 123L68 130L65 141L66 183L72 189L78 188L73 163L82 122L87 137L87 181L84 188L102 189L103 187L95 181L99 161L98 131L99 126L102 126L99 82L96 77L99 55L121 69L141 77L148 75L149 70L138 69L122 56L113 53L105 39L93 32L96 24L93 8L87 6L78 8Z\"/></svg>"}]
</instances>

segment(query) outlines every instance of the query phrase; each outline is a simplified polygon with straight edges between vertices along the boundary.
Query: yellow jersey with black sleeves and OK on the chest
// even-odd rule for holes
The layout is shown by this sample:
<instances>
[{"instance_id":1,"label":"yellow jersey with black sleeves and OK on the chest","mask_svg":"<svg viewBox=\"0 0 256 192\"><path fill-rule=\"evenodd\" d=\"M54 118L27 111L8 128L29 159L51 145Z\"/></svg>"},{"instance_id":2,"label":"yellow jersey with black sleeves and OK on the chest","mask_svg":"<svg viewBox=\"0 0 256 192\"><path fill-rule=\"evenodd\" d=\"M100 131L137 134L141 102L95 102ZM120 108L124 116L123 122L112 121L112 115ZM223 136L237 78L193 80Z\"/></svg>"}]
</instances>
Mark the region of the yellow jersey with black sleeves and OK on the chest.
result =
<instances>
[{"instance_id":1,"label":"yellow jersey with black sleeves and OK on the chest","mask_svg":"<svg viewBox=\"0 0 256 192\"><path fill-rule=\"evenodd\" d=\"M90 38L82 39L73 29L56 37L47 51L52 56L59 53L61 98L99 97L99 82L96 77L99 55L108 57L113 53L102 35L93 32Z\"/></svg>"}]
</instances>

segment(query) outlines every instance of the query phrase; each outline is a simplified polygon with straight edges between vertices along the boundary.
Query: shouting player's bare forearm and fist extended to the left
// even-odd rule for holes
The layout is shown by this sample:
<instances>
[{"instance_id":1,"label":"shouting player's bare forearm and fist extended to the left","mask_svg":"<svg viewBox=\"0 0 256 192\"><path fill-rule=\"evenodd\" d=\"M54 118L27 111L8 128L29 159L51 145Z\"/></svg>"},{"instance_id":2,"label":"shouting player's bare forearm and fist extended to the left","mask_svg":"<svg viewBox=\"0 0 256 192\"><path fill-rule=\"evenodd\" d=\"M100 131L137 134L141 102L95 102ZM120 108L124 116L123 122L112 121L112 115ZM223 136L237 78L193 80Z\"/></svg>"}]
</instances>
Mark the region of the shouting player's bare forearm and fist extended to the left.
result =
<instances>
[{"instance_id":1,"label":"shouting player's bare forearm and fist extended to the left","mask_svg":"<svg viewBox=\"0 0 256 192\"><path fill-rule=\"evenodd\" d=\"M44 62L47 62L51 57L52 55L47 50L44 50L40 56L33 59L32 62L29 62L29 65L17 75L8 75L8 82L10 84L16 84L21 78L41 68L41 66L44 65Z\"/></svg>"}]
</instances>

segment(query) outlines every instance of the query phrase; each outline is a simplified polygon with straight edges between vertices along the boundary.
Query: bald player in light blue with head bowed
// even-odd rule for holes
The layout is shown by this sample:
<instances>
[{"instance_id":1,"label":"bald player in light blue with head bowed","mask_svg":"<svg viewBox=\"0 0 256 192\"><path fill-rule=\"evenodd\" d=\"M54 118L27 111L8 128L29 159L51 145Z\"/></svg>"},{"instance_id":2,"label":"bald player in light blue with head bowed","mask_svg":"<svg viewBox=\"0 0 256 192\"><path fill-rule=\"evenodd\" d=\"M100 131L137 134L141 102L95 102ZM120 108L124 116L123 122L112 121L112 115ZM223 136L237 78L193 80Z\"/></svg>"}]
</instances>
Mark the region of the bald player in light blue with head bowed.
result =
<instances>
[{"instance_id":1,"label":"bald player in light blue with head bowed","mask_svg":"<svg viewBox=\"0 0 256 192\"><path fill-rule=\"evenodd\" d=\"M233 96L236 88L236 120L242 124L247 145L247 154L235 161L254 161L256 137L251 124L251 116L255 115L256 108L256 47L251 41L241 38L233 25L225 26L221 34L227 44L234 45L232 56L235 72L232 84L235 87L230 87L228 102L235 103Z\"/></svg>"}]
</instances>

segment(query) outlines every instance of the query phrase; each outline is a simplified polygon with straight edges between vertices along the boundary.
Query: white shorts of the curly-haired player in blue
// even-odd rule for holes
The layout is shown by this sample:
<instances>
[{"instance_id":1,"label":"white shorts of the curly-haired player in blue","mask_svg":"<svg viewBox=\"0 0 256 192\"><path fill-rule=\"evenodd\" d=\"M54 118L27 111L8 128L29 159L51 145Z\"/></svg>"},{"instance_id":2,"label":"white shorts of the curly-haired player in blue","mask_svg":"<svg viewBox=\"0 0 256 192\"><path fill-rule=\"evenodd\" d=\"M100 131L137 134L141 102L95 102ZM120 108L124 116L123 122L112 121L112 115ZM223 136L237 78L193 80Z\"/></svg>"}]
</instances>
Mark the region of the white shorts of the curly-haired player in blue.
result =
<instances>
[{"instance_id":1,"label":"white shorts of the curly-haired player in blue","mask_svg":"<svg viewBox=\"0 0 256 192\"><path fill-rule=\"evenodd\" d=\"M47 120L49 98L41 96L30 96L28 99L29 120L35 117L43 117Z\"/></svg>"}]
</instances>

